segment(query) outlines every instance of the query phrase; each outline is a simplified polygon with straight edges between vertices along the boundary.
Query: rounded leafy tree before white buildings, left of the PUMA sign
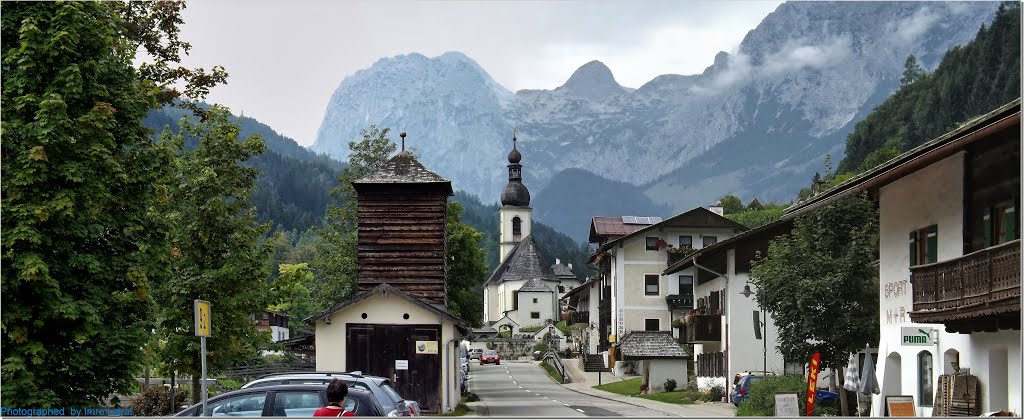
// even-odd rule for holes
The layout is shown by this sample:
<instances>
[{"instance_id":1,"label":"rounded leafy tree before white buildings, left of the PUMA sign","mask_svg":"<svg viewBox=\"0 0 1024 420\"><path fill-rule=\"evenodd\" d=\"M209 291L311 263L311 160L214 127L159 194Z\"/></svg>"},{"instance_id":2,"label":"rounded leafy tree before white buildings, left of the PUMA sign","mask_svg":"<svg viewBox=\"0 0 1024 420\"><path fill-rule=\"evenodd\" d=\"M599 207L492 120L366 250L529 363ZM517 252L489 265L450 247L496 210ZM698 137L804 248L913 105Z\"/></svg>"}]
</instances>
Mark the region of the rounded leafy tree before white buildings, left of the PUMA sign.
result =
<instances>
[{"instance_id":1,"label":"rounded leafy tree before white buildings, left of the PUMA sign","mask_svg":"<svg viewBox=\"0 0 1024 420\"><path fill-rule=\"evenodd\" d=\"M878 211L863 195L798 217L751 269L758 302L779 329L786 360L817 351L825 367L879 339ZM827 322L823 321L827 320Z\"/></svg>"}]
</instances>

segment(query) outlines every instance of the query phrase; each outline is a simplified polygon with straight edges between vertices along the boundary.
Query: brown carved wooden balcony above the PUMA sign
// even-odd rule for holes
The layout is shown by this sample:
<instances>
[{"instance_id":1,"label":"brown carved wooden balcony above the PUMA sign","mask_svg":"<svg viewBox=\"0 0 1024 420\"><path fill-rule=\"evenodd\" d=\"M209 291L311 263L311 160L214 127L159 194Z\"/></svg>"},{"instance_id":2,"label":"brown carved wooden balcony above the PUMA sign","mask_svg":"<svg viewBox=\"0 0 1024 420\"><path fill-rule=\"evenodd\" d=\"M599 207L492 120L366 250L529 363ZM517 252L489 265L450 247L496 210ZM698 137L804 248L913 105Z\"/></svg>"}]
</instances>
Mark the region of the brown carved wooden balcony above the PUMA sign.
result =
<instances>
[{"instance_id":1,"label":"brown carved wooden balcony above the PUMA sign","mask_svg":"<svg viewBox=\"0 0 1024 420\"><path fill-rule=\"evenodd\" d=\"M1020 240L910 267L915 323L971 333L1020 329Z\"/></svg>"}]
</instances>

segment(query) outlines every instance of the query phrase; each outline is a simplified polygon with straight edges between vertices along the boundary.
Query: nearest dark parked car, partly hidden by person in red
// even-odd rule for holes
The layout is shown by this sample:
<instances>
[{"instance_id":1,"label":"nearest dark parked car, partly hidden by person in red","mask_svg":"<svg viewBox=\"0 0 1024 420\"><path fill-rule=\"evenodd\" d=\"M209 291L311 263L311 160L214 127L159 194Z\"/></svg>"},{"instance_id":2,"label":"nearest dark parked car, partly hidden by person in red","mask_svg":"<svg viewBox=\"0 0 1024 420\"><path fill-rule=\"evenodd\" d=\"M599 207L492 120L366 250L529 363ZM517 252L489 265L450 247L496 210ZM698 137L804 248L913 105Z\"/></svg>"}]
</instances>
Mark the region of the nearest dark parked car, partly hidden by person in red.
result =
<instances>
[{"instance_id":1,"label":"nearest dark parked car, partly hidden by person in red","mask_svg":"<svg viewBox=\"0 0 1024 420\"><path fill-rule=\"evenodd\" d=\"M203 404L184 409L175 417L312 417L328 405L326 384L268 385L222 393ZM369 390L352 388L345 397L345 410L356 416L380 417L384 408Z\"/></svg>"}]
</instances>

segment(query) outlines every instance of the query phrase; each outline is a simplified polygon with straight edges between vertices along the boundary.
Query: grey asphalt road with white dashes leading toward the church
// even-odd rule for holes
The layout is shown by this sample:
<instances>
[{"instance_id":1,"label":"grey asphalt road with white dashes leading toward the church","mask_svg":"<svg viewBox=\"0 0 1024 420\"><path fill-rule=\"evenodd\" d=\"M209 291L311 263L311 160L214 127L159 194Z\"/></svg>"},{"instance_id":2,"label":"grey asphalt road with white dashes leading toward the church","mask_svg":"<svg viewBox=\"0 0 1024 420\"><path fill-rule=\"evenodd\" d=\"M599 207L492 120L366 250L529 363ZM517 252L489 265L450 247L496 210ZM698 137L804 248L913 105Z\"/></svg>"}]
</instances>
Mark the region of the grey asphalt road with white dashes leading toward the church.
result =
<instances>
[{"instance_id":1,"label":"grey asphalt road with white dashes leading toward the church","mask_svg":"<svg viewBox=\"0 0 1024 420\"><path fill-rule=\"evenodd\" d=\"M475 361L473 361L475 362ZM587 395L555 383L532 363L470 364L469 390L478 416L495 417L665 417L670 414Z\"/></svg>"}]
</instances>

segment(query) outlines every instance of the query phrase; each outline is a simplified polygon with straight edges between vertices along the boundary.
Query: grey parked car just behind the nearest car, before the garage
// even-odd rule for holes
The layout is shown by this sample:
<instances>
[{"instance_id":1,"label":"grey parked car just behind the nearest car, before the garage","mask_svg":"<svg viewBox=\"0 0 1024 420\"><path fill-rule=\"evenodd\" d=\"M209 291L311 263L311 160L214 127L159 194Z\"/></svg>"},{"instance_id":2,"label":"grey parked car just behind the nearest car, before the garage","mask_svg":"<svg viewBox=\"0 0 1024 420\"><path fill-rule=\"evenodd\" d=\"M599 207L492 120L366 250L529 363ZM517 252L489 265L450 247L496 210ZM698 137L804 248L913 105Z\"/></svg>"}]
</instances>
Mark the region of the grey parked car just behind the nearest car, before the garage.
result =
<instances>
[{"instance_id":1,"label":"grey parked car just behind the nearest car, before the garage","mask_svg":"<svg viewBox=\"0 0 1024 420\"><path fill-rule=\"evenodd\" d=\"M268 375L242 385L242 389L255 388L261 386L297 384L297 383L330 383L332 379L338 378L345 381L349 389L361 388L374 393L384 408L384 413L388 417L420 416L419 403L404 400L394 387L391 380L380 376L364 375L361 372L302 372ZM391 412L394 412L393 414Z\"/></svg>"}]
</instances>

